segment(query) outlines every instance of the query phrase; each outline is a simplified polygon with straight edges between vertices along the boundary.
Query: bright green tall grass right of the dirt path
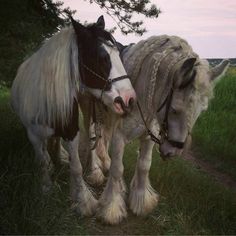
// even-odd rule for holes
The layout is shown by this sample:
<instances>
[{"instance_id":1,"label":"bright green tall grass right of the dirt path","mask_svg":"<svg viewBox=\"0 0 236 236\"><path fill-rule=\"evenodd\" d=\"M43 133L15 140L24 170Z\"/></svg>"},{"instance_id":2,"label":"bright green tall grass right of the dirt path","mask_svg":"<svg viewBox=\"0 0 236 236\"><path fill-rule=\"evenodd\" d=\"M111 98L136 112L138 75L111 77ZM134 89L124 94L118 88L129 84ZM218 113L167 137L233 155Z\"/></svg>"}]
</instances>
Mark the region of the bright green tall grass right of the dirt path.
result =
<instances>
[{"instance_id":1,"label":"bright green tall grass right of the dirt path","mask_svg":"<svg viewBox=\"0 0 236 236\"><path fill-rule=\"evenodd\" d=\"M236 68L215 87L215 97L193 130L195 152L236 181Z\"/></svg>"}]
</instances>

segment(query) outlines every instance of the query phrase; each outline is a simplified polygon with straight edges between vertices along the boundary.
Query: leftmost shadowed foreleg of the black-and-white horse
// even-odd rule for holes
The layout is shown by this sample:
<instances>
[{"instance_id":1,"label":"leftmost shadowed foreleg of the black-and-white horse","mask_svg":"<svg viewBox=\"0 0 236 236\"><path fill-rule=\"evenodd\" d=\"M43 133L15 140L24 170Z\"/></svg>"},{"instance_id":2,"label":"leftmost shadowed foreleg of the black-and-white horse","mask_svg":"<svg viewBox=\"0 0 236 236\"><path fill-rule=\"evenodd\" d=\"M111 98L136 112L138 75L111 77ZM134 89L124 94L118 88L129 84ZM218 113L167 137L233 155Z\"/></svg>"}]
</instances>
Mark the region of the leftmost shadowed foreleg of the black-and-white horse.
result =
<instances>
[{"instance_id":1,"label":"leftmost shadowed foreleg of the black-and-white horse","mask_svg":"<svg viewBox=\"0 0 236 236\"><path fill-rule=\"evenodd\" d=\"M47 192L52 185L49 175L50 156L47 151L47 138L53 131L40 126L32 126L27 128L28 138L32 143L36 158L42 168L42 188Z\"/></svg>"}]
</instances>

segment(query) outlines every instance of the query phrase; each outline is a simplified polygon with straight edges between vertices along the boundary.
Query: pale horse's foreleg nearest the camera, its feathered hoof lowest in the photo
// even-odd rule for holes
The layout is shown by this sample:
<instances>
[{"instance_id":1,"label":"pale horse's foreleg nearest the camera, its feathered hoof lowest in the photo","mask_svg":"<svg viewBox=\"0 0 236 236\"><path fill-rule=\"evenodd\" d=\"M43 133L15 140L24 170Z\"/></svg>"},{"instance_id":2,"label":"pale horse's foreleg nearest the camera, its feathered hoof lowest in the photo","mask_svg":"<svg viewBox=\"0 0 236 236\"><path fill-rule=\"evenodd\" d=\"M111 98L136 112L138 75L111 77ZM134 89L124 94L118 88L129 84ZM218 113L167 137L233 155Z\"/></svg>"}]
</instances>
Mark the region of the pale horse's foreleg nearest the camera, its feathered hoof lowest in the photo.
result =
<instances>
[{"instance_id":1,"label":"pale horse's foreleg nearest the camera, its feathered hoof lowest in the photo","mask_svg":"<svg viewBox=\"0 0 236 236\"><path fill-rule=\"evenodd\" d=\"M99 200L97 216L109 224L117 224L127 216L124 201L125 187L122 179L124 167L122 158L124 154L125 141L119 130L113 134L111 142L111 167L109 178Z\"/></svg>"}]
</instances>

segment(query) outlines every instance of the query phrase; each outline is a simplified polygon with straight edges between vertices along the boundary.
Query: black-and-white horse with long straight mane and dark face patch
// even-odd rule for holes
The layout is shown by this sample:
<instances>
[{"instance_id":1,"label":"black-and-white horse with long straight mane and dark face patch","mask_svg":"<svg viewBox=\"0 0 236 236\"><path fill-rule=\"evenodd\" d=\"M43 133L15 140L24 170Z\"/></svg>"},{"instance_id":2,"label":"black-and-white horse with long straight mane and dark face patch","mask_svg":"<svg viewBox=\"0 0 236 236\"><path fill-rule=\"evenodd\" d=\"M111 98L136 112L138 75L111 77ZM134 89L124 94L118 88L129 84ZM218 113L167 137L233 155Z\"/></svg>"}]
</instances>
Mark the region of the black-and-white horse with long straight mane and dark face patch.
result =
<instances>
[{"instance_id":1,"label":"black-and-white horse with long straight mane and dark face patch","mask_svg":"<svg viewBox=\"0 0 236 236\"><path fill-rule=\"evenodd\" d=\"M81 214L90 215L97 200L83 180L78 155L78 94L86 90L122 115L130 110L135 91L114 38L104 30L103 17L86 27L71 20L73 27L47 40L19 67L11 100L41 163L43 189L51 185L47 141L63 137L70 157L72 200Z\"/></svg>"}]
</instances>

